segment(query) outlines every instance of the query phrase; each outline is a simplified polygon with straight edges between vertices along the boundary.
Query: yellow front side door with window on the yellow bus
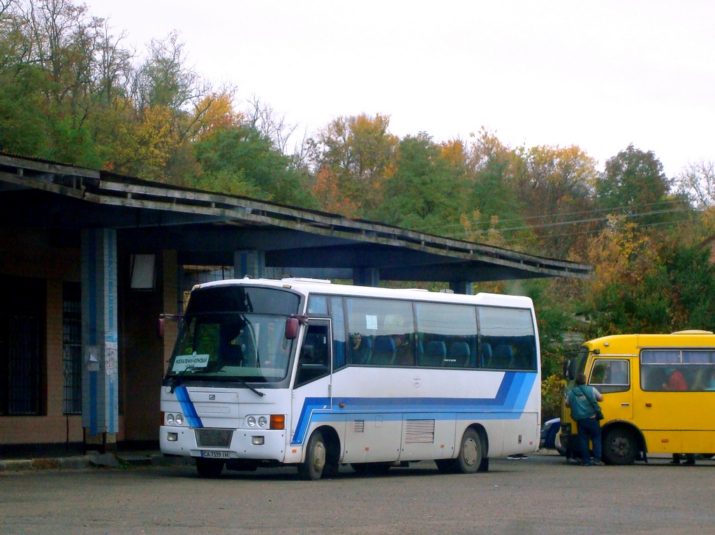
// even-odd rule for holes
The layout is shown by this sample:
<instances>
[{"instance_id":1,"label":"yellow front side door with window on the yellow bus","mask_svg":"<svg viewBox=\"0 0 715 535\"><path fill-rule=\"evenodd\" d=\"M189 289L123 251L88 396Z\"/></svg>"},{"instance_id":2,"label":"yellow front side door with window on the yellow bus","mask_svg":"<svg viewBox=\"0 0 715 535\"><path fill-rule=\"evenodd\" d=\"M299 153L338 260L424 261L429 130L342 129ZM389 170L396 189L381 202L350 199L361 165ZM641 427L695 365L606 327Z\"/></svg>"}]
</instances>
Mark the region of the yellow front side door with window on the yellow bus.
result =
<instances>
[{"instance_id":1,"label":"yellow front side door with window on the yellow bus","mask_svg":"<svg viewBox=\"0 0 715 535\"><path fill-rule=\"evenodd\" d=\"M595 356L588 384L603 394L601 409L604 423L611 420L633 420L631 359L601 359Z\"/></svg>"}]
</instances>

